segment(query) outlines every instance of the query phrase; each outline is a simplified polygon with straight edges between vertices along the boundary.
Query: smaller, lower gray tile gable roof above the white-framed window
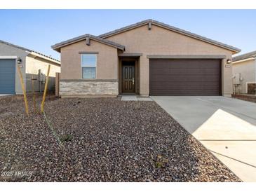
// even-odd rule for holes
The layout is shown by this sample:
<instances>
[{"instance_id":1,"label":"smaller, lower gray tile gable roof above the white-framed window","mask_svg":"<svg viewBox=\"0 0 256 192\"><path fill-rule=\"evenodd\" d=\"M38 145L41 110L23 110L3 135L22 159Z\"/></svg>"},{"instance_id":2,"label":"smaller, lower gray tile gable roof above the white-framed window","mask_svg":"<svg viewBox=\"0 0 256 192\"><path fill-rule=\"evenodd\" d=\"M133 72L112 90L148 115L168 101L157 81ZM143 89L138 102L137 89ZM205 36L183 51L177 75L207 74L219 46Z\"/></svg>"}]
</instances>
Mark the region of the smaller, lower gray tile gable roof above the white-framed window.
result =
<instances>
[{"instance_id":1,"label":"smaller, lower gray tile gable roof above the white-framed window","mask_svg":"<svg viewBox=\"0 0 256 192\"><path fill-rule=\"evenodd\" d=\"M124 50L124 46L120 45L119 43L115 43L113 41L102 39L98 36L94 36L94 35L91 35L91 34L84 34L84 35L81 35L81 36L74 37L73 39L69 39L67 41L62 41L60 43L56 43L55 45L51 46L51 48L53 48L54 50L60 51L60 48L62 48L64 46L67 46L68 44L75 43L77 41L82 41L82 40L86 39L87 37L90 38L90 39L93 39L95 41L100 41L101 43L105 43L109 46L114 46L115 48L119 48L121 50Z\"/></svg>"}]
</instances>

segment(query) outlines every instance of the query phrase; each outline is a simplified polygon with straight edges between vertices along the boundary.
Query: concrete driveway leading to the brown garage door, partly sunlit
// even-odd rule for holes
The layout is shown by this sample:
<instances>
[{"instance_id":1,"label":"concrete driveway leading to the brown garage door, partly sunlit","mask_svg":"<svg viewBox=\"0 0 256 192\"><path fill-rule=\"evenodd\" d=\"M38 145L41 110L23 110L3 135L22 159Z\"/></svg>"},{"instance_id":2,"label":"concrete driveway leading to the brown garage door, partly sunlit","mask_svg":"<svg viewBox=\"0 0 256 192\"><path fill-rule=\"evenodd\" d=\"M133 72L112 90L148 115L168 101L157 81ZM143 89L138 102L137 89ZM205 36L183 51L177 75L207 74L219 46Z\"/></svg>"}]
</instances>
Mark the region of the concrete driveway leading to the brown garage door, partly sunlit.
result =
<instances>
[{"instance_id":1,"label":"concrete driveway leading to the brown garage door, partly sunlit","mask_svg":"<svg viewBox=\"0 0 256 192\"><path fill-rule=\"evenodd\" d=\"M256 181L256 104L229 97L152 96L243 181Z\"/></svg>"}]
</instances>

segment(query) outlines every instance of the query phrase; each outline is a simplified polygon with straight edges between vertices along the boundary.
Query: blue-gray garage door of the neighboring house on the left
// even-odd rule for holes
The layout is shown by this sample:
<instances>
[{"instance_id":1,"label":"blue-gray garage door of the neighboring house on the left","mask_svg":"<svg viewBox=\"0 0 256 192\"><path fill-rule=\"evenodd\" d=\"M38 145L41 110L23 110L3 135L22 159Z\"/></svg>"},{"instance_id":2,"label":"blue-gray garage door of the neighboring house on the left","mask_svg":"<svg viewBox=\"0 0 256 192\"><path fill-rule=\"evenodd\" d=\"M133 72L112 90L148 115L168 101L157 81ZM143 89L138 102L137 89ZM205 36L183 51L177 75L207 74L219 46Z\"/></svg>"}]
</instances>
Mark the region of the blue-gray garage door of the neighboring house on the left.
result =
<instances>
[{"instance_id":1,"label":"blue-gray garage door of the neighboring house on the left","mask_svg":"<svg viewBox=\"0 0 256 192\"><path fill-rule=\"evenodd\" d=\"M15 60L0 59L0 93L15 93Z\"/></svg>"}]
</instances>

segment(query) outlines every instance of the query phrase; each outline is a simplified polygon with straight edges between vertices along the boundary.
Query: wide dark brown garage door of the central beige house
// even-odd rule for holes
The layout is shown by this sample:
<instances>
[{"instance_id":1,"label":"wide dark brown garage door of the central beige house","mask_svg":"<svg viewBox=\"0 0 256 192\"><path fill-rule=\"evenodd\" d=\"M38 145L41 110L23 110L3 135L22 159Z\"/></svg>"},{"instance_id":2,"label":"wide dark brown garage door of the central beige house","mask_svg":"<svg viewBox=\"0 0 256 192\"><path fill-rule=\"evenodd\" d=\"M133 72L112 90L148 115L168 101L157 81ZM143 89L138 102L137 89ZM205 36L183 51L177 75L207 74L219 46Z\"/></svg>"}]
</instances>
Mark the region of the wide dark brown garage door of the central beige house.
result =
<instances>
[{"instance_id":1,"label":"wide dark brown garage door of the central beige house","mask_svg":"<svg viewBox=\"0 0 256 192\"><path fill-rule=\"evenodd\" d=\"M221 95L221 60L149 60L149 95Z\"/></svg>"}]
</instances>

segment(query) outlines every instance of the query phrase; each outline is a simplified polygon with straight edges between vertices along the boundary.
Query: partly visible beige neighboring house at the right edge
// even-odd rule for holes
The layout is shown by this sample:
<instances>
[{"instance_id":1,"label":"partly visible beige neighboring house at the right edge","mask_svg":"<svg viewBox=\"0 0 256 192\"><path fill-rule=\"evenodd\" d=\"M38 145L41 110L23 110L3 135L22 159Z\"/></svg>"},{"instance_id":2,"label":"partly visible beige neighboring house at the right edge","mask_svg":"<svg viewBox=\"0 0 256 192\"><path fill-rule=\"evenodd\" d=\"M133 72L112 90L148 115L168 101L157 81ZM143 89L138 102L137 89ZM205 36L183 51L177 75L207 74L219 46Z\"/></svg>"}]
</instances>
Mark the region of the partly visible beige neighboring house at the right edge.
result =
<instances>
[{"instance_id":1,"label":"partly visible beige neighboring house at the right edge","mask_svg":"<svg viewBox=\"0 0 256 192\"><path fill-rule=\"evenodd\" d=\"M236 93L256 95L256 51L233 57Z\"/></svg>"}]
</instances>

